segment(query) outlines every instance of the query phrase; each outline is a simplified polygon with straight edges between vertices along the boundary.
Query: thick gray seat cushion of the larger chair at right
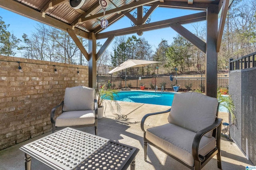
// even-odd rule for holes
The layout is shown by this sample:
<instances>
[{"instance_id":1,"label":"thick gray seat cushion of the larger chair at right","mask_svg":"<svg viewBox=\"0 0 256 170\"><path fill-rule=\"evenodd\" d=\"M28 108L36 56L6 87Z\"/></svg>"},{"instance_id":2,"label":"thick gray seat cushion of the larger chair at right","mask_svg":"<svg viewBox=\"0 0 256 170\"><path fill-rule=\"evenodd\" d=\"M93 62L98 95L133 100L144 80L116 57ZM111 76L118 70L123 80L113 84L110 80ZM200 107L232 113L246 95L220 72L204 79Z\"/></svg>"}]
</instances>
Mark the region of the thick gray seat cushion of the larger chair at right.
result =
<instances>
[{"instance_id":1,"label":"thick gray seat cushion of the larger chair at right","mask_svg":"<svg viewBox=\"0 0 256 170\"><path fill-rule=\"evenodd\" d=\"M194 166L192 143L196 133L177 125L167 123L146 131L146 139L176 156L189 166ZM199 144L199 154L205 156L215 148L215 138L203 136Z\"/></svg>"}]
</instances>

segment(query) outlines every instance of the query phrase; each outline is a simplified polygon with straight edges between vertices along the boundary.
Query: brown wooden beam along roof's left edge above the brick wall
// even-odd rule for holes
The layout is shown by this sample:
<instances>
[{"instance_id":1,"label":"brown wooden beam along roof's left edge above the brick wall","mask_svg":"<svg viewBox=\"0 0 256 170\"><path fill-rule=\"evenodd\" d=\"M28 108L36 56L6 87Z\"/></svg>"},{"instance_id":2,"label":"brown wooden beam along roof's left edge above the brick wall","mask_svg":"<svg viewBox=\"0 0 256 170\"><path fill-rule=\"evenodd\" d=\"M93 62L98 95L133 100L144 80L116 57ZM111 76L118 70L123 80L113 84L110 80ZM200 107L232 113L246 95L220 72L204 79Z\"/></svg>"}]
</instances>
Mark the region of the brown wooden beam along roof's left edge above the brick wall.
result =
<instances>
[{"instance_id":1,"label":"brown wooden beam along roof's left edge above the brick wall","mask_svg":"<svg viewBox=\"0 0 256 170\"><path fill-rule=\"evenodd\" d=\"M57 19L54 19L52 17L45 16L45 18L43 18L41 12L38 12L38 11L36 11L28 6L25 6L17 1L14 1L14 0L10 0L10 1L0 0L0 7L4 8L6 10L9 10L11 12L14 12L16 14L19 14L21 16L30 18L32 20L35 20L35 21L38 21L41 23L45 23L52 27L61 29L62 31L67 31L67 29L72 29L72 26L70 26L62 21L59 21ZM75 28L74 32L76 33L76 35L79 35L80 37L84 37L84 38L88 39L88 33L86 33L85 31Z\"/></svg>"}]
</instances>

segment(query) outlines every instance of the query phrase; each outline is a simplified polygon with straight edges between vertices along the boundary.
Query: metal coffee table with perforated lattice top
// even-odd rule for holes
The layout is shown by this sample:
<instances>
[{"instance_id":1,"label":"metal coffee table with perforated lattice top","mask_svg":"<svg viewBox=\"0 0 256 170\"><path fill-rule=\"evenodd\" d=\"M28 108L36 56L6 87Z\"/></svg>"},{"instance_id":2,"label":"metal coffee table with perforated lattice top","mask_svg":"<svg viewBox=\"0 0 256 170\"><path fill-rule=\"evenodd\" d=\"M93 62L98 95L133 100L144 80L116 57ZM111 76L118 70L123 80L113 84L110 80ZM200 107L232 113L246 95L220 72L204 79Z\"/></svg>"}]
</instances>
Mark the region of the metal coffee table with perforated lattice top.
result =
<instances>
[{"instance_id":1,"label":"metal coffee table with perforated lattice top","mask_svg":"<svg viewBox=\"0 0 256 170\"><path fill-rule=\"evenodd\" d=\"M56 170L135 169L139 149L96 135L66 128L20 148L25 152L25 169L31 157Z\"/></svg>"}]
</instances>

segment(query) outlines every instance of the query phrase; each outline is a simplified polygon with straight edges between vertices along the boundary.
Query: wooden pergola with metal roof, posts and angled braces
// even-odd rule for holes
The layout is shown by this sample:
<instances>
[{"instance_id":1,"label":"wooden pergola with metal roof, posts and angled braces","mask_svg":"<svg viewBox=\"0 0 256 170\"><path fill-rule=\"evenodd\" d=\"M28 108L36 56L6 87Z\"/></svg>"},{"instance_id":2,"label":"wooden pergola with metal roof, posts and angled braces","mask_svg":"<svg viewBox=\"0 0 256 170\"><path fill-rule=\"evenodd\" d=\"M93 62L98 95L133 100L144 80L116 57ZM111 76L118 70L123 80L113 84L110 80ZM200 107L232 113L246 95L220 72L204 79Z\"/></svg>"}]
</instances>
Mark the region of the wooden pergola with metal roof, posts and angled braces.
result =
<instances>
[{"instance_id":1,"label":"wooden pergola with metal roof, posts and angled braces","mask_svg":"<svg viewBox=\"0 0 256 170\"><path fill-rule=\"evenodd\" d=\"M180 35L206 53L206 95L216 97L217 94L217 58L220 50L224 24L228 7L232 0L106 0L106 13L99 0L0 0L0 7L22 16L67 31L88 60L89 87L96 86L96 61L112 42L114 37L144 31L171 27ZM70 5L72 4L72 6ZM79 6L81 5L81 7ZM143 6L149 9L143 15ZM178 8L198 10L196 14L170 18L168 20L146 23L156 8ZM137 17L130 12L137 8ZM220 22L218 18L220 16ZM113 31L104 30L100 21L105 18L108 25L122 17L128 17L134 26ZM182 24L206 20L206 42L188 31ZM88 51L78 37L88 39ZM106 39L96 53L96 40Z\"/></svg>"}]
</instances>

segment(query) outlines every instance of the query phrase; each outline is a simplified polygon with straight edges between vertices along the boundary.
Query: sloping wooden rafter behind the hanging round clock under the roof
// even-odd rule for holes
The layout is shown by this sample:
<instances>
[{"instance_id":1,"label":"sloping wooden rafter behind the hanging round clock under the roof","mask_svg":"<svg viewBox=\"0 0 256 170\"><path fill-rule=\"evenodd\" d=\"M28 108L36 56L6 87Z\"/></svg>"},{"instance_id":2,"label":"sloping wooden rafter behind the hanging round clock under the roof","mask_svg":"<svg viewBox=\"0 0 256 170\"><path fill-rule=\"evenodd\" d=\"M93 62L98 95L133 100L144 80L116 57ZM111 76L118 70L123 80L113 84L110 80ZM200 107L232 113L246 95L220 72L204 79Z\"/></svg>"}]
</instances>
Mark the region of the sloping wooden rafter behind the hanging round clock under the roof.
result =
<instances>
[{"instance_id":1,"label":"sloping wooden rafter behind the hanging round clock under the roof","mask_svg":"<svg viewBox=\"0 0 256 170\"><path fill-rule=\"evenodd\" d=\"M156 2L156 1L159 1L159 0L140 0L138 2L132 2L130 4L127 4L127 5L112 9L112 10L108 10L108 11L106 11L105 15L107 16L107 15L110 15L110 14L115 14L115 13L119 13L119 12L122 12L122 11L130 10L132 8L143 6L145 4L150 4L150 3ZM82 18L81 21L84 22L84 21L88 21L88 20L93 20L95 18L100 18L100 17L103 17L103 16L104 16L104 14L103 14L103 12L101 12L101 13L95 14L93 16Z\"/></svg>"}]
</instances>

